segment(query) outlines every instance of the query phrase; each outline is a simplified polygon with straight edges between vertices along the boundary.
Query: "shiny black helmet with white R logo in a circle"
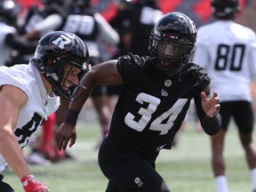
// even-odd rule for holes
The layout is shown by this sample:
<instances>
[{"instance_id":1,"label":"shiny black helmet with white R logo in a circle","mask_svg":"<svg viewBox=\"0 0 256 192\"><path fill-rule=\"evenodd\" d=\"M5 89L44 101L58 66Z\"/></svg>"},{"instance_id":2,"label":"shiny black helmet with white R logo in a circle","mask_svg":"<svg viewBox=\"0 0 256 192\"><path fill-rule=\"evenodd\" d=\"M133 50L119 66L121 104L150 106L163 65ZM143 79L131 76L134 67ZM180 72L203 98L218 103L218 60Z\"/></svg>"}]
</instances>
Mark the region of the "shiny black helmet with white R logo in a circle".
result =
<instances>
[{"instance_id":1,"label":"shiny black helmet with white R logo in a circle","mask_svg":"<svg viewBox=\"0 0 256 192\"><path fill-rule=\"evenodd\" d=\"M39 40L35 56L30 63L35 65L52 84L52 91L56 95L64 96L68 100L75 100L81 96L76 95L79 89L73 92L75 88L85 90L85 87L82 84L70 82L67 76L63 76L64 66L68 64L72 68L79 68L81 70L79 79L81 79L91 69L88 61L88 49L78 36L63 31L53 31ZM67 81L72 84L68 90L62 88L62 84Z\"/></svg>"}]
</instances>

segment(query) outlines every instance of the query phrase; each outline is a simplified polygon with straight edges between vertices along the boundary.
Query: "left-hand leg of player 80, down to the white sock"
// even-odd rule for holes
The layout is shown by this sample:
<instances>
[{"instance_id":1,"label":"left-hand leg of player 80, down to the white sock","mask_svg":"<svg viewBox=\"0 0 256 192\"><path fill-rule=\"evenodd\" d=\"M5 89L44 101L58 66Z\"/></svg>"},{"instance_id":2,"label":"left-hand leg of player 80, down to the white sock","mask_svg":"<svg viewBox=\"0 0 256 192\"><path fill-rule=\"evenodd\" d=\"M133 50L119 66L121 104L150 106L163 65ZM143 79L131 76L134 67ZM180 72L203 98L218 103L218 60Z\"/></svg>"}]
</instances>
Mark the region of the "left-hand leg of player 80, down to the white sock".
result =
<instances>
[{"instance_id":1,"label":"left-hand leg of player 80, down to the white sock","mask_svg":"<svg viewBox=\"0 0 256 192\"><path fill-rule=\"evenodd\" d=\"M228 192L228 183L225 176L225 158L223 156L224 140L228 131L228 124L231 116L229 102L220 103L221 129L216 135L211 136L212 142L212 171L214 174L218 192Z\"/></svg>"}]
</instances>

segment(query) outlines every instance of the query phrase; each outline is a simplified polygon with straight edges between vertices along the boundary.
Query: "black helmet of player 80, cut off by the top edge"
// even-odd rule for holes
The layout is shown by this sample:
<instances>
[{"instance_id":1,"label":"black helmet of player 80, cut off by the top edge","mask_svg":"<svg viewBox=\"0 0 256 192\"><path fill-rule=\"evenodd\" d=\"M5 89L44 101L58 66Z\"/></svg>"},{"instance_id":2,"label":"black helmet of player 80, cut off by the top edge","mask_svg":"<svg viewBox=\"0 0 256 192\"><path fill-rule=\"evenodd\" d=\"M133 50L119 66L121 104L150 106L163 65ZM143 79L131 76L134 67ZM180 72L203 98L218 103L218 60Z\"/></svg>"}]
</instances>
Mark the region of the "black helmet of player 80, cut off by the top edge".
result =
<instances>
[{"instance_id":1,"label":"black helmet of player 80, cut off by the top edge","mask_svg":"<svg viewBox=\"0 0 256 192\"><path fill-rule=\"evenodd\" d=\"M222 20L235 19L240 11L239 0L212 0L211 5L214 17Z\"/></svg>"}]
</instances>

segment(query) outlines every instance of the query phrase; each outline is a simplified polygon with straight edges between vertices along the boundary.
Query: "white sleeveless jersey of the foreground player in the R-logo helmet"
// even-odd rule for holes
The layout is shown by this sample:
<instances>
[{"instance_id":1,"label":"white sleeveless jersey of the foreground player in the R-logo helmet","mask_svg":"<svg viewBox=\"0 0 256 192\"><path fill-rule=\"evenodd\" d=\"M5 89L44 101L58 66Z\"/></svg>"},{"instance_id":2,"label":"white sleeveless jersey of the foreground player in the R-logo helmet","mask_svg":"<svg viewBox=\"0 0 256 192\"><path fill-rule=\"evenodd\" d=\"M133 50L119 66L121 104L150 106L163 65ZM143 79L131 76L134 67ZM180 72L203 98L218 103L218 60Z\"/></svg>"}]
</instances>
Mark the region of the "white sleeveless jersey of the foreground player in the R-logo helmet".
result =
<instances>
[{"instance_id":1,"label":"white sleeveless jersey of the foreground player in the R-logo helmet","mask_svg":"<svg viewBox=\"0 0 256 192\"><path fill-rule=\"evenodd\" d=\"M18 123L14 129L20 148L39 132L44 120L60 106L60 98L50 97L45 88L39 71L31 64L16 65L12 68L0 68L0 86L12 84L28 95L27 104L21 108ZM4 170L6 162L0 154L0 171Z\"/></svg>"}]
</instances>

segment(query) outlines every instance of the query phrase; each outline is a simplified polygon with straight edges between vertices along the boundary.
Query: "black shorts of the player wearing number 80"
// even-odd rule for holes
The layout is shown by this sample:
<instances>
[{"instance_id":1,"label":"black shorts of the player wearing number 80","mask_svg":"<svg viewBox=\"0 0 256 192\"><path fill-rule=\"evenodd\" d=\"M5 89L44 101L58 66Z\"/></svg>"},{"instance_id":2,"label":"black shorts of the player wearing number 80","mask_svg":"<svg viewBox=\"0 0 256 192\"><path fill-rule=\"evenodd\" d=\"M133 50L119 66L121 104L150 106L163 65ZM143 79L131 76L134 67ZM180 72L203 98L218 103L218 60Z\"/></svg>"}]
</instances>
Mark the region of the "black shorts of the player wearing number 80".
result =
<instances>
[{"instance_id":1,"label":"black shorts of the player wearing number 80","mask_svg":"<svg viewBox=\"0 0 256 192\"><path fill-rule=\"evenodd\" d=\"M252 103L249 101L225 101L220 102L221 129L228 130L231 117L240 133L250 134L253 129Z\"/></svg>"}]
</instances>

